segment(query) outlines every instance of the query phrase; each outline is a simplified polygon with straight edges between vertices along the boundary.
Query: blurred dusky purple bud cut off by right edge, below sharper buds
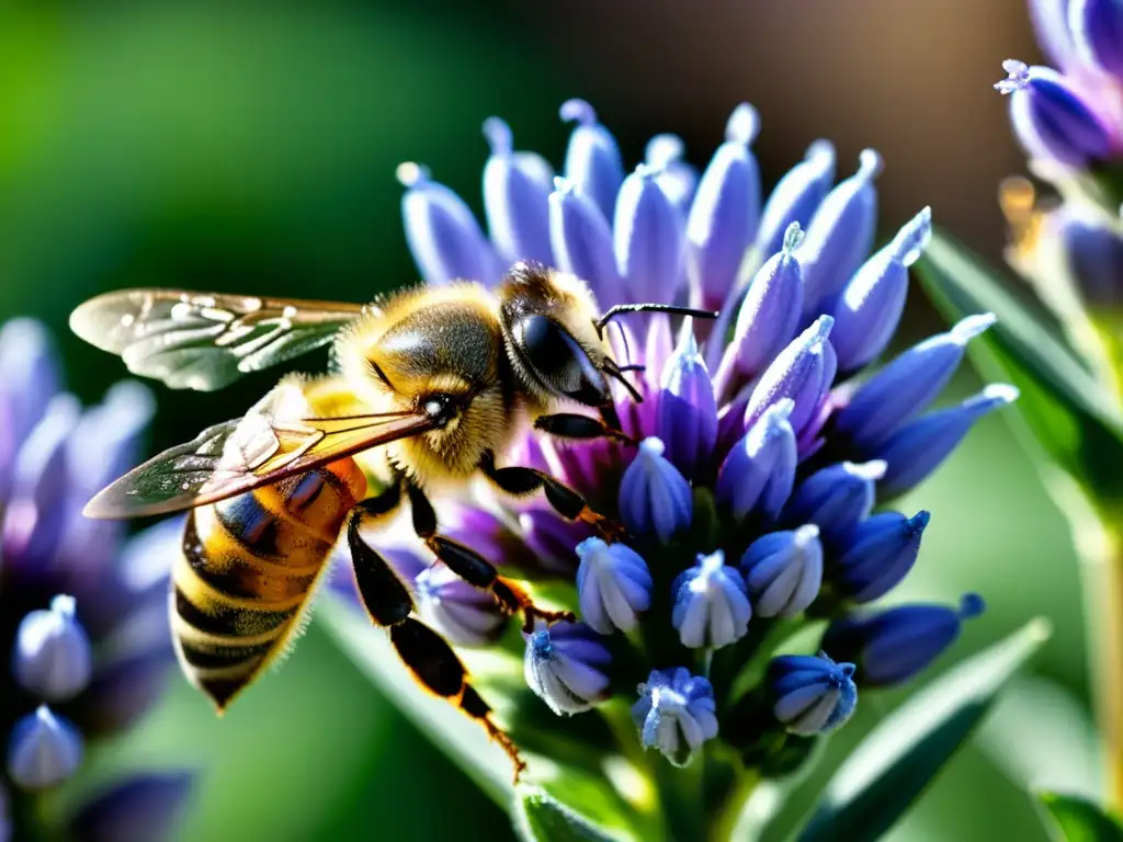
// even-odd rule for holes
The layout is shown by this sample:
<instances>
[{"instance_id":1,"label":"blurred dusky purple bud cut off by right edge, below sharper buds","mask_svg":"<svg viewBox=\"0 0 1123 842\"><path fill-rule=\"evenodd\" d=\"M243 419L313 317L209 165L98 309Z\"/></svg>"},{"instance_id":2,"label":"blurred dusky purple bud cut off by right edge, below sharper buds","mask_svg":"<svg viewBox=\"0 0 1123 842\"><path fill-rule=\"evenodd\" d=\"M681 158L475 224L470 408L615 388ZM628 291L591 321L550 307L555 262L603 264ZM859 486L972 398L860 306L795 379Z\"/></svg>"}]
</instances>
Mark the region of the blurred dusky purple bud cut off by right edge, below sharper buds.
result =
<instances>
[{"instance_id":1,"label":"blurred dusky purple bud cut off by right edge, below sharper buds","mask_svg":"<svg viewBox=\"0 0 1123 842\"><path fill-rule=\"evenodd\" d=\"M1093 309L1123 306L1123 235L1117 220L1061 213L1068 274L1080 298Z\"/></svg>"}]
</instances>

